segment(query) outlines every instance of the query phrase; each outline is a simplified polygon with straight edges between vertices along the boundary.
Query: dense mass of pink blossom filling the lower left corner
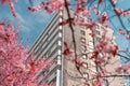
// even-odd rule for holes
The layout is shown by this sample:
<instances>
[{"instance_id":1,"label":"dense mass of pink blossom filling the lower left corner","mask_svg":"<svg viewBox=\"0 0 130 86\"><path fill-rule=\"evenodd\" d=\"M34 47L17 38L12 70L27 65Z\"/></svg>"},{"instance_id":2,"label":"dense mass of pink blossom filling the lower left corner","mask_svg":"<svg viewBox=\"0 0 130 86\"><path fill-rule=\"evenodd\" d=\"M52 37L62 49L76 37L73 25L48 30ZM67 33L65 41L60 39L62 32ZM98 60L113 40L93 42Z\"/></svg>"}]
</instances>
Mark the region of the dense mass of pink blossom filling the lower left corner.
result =
<instances>
[{"instance_id":1,"label":"dense mass of pink blossom filling the lower left corner","mask_svg":"<svg viewBox=\"0 0 130 86\"><path fill-rule=\"evenodd\" d=\"M35 74L40 70L47 70L52 61L44 57L30 62L35 55L25 58L28 49L17 42L16 31L13 25L0 24L0 86L40 86ZM6 28L6 30L4 29ZM44 82L44 81L42 81ZM47 86L47 85L46 85Z\"/></svg>"}]
</instances>

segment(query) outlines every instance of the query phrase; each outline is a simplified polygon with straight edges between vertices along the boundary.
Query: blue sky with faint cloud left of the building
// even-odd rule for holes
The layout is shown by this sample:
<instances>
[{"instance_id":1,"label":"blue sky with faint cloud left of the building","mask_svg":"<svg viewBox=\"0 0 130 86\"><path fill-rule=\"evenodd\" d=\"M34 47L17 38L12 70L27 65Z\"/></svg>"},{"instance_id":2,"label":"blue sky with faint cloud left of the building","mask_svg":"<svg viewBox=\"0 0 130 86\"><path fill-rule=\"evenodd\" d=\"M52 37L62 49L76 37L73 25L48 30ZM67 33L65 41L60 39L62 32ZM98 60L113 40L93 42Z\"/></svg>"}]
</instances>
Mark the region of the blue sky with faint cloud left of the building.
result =
<instances>
[{"instance_id":1,"label":"blue sky with faint cloud left of the building","mask_svg":"<svg viewBox=\"0 0 130 86\"><path fill-rule=\"evenodd\" d=\"M40 0L37 0L35 4L38 4L38 1ZM28 39L31 45L39 32L51 18L52 14L48 14L44 11L35 13L27 11L27 8L30 6L28 0L17 0L17 2L14 3L14 6L17 12L17 17L12 16L6 4L0 5L0 22L8 19L13 20L15 26L20 24L20 37L23 39L23 44L25 44Z\"/></svg>"}]
</instances>

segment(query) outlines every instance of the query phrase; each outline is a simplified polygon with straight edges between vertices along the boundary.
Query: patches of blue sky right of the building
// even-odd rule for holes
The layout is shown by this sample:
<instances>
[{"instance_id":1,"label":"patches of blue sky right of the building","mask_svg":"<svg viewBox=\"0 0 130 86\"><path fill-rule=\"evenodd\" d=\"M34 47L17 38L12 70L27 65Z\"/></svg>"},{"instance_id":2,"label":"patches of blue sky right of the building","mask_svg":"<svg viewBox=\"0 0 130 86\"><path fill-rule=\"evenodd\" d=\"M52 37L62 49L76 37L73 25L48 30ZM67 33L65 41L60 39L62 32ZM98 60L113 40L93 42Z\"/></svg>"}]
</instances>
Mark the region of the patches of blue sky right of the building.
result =
<instances>
[{"instance_id":1,"label":"patches of blue sky right of the building","mask_svg":"<svg viewBox=\"0 0 130 86\"><path fill-rule=\"evenodd\" d=\"M116 6L117 8L119 8L119 9L123 9L123 10L128 10L128 9L130 9L130 0L117 0L118 2L117 2L117 4L116 4ZM110 13L109 13L110 14ZM123 25L125 25L125 27L128 29L128 30L130 30L130 23L129 23L129 19L130 18L130 15L127 15L126 17L121 17L121 19L122 19L122 23L123 23ZM120 25L120 23L119 23L119 20L117 19L117 17L114 17L113 19L112 19L112 22L113 22L113 25L115 26L115 27L113 27L112 25L112 27L110 28L113 28L113 30L115 31L115 37L116 37L116 42L120 45L120 47L122 48L122 49L126 49L126 47L130 47L128 44L128 42L129 41L127 41L126 40L126 37L123 37L123 35L120 35L119 33L118 33L118 29L122 29L123 30L123 28L121 27L121 25Z\"/></svg>"}]
</instances>

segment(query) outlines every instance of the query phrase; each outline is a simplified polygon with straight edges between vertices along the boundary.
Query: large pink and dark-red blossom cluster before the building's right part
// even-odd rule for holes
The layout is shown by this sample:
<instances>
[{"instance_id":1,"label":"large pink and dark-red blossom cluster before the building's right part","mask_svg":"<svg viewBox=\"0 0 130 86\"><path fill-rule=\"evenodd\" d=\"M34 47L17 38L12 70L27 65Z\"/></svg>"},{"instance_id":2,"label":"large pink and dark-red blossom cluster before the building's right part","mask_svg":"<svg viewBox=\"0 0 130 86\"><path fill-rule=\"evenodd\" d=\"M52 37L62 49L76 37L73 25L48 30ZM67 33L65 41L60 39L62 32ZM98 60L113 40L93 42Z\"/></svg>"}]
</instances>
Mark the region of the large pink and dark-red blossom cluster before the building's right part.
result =
<instances>
[{"instance_id":1,"label":"large pink and dark-red blossom cluster before the building's right part","mask_svg":"<svg viewBox=\"0 0 130 86\"><path fill-rule=\"evenodd\" d=\"M112 39L107 37L107 28L104 28L102 33L102 39L100 39L94 46L92 52L93 59L98 66L104 66L109 57L115 57L117 55L118 45L112 42Z\"/></svg>"}]
</instances>

